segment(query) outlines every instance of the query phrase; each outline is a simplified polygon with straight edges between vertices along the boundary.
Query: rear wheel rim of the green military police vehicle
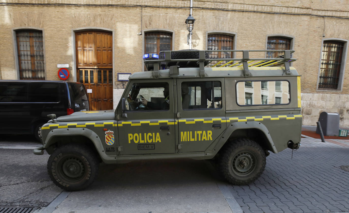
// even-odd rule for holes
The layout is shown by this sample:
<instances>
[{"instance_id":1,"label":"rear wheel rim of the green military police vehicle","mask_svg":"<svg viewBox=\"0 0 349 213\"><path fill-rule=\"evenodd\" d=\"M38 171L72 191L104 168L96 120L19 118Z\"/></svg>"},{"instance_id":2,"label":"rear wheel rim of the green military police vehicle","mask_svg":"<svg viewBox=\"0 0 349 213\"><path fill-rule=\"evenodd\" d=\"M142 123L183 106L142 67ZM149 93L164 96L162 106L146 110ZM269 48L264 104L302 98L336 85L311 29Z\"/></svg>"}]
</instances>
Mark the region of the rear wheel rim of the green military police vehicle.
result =
<instances>
[{"instance_id":1,"label":"rear wheel rim of the green military police vehicle","mask_svg":"<svg viewBox=\"0 0 349 213\"><path fill-rule=\"evenodd\" d=\"M257 158L252 152L242 151L237 153L231 162L231 169L238 176L247 176L257 167Z\"/></svg>"}]
</instances>

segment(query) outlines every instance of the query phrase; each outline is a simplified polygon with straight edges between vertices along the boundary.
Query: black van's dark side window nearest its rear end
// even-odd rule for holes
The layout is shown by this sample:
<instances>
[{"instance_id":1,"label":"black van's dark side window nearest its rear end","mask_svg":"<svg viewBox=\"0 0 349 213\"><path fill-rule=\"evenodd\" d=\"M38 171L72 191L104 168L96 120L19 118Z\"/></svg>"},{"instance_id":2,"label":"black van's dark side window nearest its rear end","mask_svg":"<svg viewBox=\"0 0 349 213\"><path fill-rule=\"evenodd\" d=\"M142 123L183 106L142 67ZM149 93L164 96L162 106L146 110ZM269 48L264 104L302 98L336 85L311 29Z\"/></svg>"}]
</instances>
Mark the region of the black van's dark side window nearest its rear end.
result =
<instances>
[{"instance_id":1,"label":"black van's dark side window nearest its rear end","mask_svg":"<svg viewBox=\"0 0 349 213\"><path fill-rule=\"evenodd\" d=\"M29 102L59 102L59 84L31 82L28 90Z\"/></svg>"}]
</instances>

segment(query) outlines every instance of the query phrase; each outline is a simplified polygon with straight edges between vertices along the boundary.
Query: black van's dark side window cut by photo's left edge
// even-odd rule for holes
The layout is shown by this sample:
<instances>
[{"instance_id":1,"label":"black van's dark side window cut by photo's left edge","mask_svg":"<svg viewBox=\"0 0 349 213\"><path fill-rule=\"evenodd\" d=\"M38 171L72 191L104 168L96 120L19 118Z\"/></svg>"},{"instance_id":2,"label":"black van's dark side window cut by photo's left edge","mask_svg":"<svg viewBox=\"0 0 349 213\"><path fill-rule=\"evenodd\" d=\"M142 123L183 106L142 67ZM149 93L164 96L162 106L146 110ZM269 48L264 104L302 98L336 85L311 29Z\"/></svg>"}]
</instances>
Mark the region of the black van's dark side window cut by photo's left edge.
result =
<instances>
[{"instance_id":1,"label":"black van's dark side window cut by photo's left edge","mask_svg":"<svg viewBox=\"0 0 349 213\"><path fill-rule=\"evenodd\" d=\"M0 84L0 102L27 102L28 83L3 82Z\"/></svg>"}]
</instances>

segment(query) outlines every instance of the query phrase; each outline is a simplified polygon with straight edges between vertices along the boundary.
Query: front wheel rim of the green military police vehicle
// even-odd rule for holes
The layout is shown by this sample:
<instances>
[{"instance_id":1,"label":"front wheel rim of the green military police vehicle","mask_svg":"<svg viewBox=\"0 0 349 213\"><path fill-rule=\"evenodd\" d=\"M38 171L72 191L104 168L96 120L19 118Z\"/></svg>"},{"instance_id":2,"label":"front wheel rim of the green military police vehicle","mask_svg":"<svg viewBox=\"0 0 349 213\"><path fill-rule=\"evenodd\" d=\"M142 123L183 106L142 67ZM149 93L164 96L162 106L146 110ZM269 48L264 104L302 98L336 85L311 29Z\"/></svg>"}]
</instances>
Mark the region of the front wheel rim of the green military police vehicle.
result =
<instances>
[{"instance_id":1,"label":"front wheel rim of the green military police vehicle","mask_svg":"<svg viewBox=\"0 0 349 213\"><path fill-rule=\"evenodd\" d=\"M76 182L81 180L85 174L84 163L76 157L66 157L61 162L62 178L69 182Z\"/></svg>"}]
</instances>

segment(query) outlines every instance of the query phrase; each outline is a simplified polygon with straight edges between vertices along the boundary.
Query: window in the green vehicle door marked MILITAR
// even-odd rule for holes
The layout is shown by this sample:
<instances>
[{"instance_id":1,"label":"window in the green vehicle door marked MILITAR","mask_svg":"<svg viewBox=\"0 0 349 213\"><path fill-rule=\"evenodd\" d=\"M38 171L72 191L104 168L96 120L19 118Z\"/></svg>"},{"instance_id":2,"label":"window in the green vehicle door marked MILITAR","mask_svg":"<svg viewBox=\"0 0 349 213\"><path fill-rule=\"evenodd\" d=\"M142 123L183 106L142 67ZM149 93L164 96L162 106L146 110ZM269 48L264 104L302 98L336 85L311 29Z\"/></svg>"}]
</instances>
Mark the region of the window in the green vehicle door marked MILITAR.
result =
<instances>
[{"instance_id":1,"label":"window in the green vehicle door marked MILITAR","mask_svg":"<svg viewBox=\"0 0 349 213\"><path fill-rule=\"evenodd\" d=\"M213 88L213 89L212 89ZM182 109L221 109L220 81L194 81L181 84Z\"/></svg>"}]
</instances>

